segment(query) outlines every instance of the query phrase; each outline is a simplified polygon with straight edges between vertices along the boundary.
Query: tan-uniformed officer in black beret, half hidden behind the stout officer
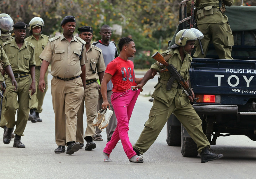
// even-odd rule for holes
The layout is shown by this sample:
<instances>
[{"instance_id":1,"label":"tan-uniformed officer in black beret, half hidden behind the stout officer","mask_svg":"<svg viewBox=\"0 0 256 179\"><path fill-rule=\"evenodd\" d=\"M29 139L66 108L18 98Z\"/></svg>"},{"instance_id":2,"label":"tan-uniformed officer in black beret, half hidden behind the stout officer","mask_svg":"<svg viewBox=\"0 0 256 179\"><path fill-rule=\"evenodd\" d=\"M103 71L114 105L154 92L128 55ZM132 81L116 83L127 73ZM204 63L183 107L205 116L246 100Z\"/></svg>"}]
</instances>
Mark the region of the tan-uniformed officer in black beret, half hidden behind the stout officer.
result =
<instances>
[{"instance_id":1,"label":"tan-uniformed officer in black beret, half hidden behind the stout officer","mask_svg":"<svg viewBox=\"0 0 256 179\"><path fill-rule=\"evenodd\" d=\"M104 71L106 69L105 62L102 55L102 50L92 44L90 44L93 38L93 28L90 26L83 26L78 28L80 32L79 37L86 42L86 53L89 65L86 65L86 89L83 95L85 104L81 104L77 113L77 140L79 141L81 148L83 146L83 111L84 106L86 108L87 127L85 131L86 146L85 150L95 149L96 144L93 142L93 136L95 129L93 127L93 120L97 115L98 105L98 83L102 81Z\"/></svg>"}]
</instances>

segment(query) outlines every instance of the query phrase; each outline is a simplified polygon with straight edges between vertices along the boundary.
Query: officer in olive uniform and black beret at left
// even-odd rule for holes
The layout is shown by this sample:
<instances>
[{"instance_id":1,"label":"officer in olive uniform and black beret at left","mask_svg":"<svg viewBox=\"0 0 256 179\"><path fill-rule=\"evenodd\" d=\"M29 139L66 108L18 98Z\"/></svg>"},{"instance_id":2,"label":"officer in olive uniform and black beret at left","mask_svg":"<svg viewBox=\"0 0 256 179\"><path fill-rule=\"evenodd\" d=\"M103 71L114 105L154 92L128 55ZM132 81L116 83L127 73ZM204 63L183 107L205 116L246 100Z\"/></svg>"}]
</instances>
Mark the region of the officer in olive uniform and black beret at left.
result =
<instances>
[{"instance_id":1,"label":"officer in olive uniform and black beret at left","mask_svg":"<svg viewBox=\"0 0 256 179\"><path fill-rule=\"evenodd\" d=\"M30 42L26 42L26 28L27 24L17 22L13 25L15 38L11 41L3 43L3 50L9 59L13 69L14 77L18 83L18 88L14 91L10 76L6 79L5 91L5 112L4 116L7 121L7 130L3 135L3 143L9 144L11 140L11 133L14 130L14 147L25 148L21 142L21 136L24 136L27 119L29 117L31 95L35 93L35 46ZM31 74L31 78L29 77ZM17 100L18 99L18 100ZM18 109L17 121L15 121L15 114Z\"/></svg>"}]
</instances>

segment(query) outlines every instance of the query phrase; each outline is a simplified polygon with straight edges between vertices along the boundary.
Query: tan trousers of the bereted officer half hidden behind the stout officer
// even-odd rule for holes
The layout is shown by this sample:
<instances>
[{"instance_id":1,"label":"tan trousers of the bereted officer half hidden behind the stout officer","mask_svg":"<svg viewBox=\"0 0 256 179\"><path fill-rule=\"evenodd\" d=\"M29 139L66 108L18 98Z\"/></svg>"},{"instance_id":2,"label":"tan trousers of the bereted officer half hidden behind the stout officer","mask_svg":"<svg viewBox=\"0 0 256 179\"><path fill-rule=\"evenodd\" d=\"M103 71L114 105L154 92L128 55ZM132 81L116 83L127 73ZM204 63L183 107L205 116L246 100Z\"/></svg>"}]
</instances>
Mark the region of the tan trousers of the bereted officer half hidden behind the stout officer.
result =
<instances>
[{"instance_id":1,"label":"tan trousers of the bereted officer half hidden behind the stout officer","mask_svg":"<svg viewBox=\"0 0 256 179\"><path fill-rule=\"evenodd\" d=\"M87 119L87 127L85 131L85 137L94 136L94 126L93 120L97 115L97 105L98 105L98 84L97 82L87 84L85 88L85 93L83 95L83 100L85 103L81 103L81 106L77 113L77 142L83 143L83 111L86 109L86 119Z\"/></svg>"}]
</instances>

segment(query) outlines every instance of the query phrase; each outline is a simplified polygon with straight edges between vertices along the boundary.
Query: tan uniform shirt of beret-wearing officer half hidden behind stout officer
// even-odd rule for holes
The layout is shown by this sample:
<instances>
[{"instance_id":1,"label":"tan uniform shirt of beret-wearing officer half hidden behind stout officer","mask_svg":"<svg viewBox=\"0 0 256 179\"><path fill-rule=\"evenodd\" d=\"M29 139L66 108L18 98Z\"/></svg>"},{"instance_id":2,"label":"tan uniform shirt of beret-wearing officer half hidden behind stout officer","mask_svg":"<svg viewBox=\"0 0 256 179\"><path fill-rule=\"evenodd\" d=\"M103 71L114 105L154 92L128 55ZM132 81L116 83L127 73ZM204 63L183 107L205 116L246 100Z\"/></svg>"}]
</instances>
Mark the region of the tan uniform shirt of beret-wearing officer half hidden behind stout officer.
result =
<instances>
[{"instance_id":1,"label":"tan uniform shirt of beret-wearing officer half hidden behind stout officer","mask_svg":"<svg viewBox=\"0 0 256 179\"><path fill-rule=\"evenodd\" d=\"M88 65L86 65L86 80L97 80L99 79L97 72L106 70L102 51L100 48L90 44L86 53L88 58Z\"/></svg>"}]
</instances>

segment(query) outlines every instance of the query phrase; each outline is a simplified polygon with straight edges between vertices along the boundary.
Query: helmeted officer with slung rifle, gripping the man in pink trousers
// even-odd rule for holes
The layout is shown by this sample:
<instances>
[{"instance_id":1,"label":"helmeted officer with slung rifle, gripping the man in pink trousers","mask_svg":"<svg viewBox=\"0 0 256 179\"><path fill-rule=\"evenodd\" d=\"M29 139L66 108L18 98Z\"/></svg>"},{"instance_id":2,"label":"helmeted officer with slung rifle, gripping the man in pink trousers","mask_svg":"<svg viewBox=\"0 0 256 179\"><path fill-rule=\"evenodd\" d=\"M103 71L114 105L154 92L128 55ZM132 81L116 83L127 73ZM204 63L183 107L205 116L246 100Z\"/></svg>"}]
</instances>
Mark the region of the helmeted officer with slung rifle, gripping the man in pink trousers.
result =
<instances>
[{"instance_id":1,"label":"helmeted officer with slung rifle, gripping the man in pink trousers","mask_svg":"<svg viewBox=\"0 0 256 179\"><path fill-rule=\"evenodd\" d=\"M165 61L173 64L188 84L189 69L192 61L190 53L194 48L197 38L201 39L202 37L203 34L197 29L181 30L177 33L175 44L171 46L171 49L162 53ZM152 77L152 72L159 72L164 67L159 62L153 64L137 87L142 88ZM174 81L171 90L167 90L166 85L170 79L170 73L168 72L161 73L159 78L159 82L151 96L154 98L154 101L149 113L149 119L145 123L139 139L133 146L134 151L137 154L146 152L157 139L168 117L173 113L186 128L195 143L197 143L198 152L201 153L201 162L205 163L222 158L222 154L215 154L209 150L210 143L202 131L202 121L190 104L190 101L194 98L193 91L193 96L187 97L183 89L179 87L177 80Z\"/></svg>"}]
</instances>

